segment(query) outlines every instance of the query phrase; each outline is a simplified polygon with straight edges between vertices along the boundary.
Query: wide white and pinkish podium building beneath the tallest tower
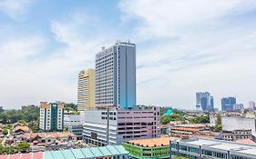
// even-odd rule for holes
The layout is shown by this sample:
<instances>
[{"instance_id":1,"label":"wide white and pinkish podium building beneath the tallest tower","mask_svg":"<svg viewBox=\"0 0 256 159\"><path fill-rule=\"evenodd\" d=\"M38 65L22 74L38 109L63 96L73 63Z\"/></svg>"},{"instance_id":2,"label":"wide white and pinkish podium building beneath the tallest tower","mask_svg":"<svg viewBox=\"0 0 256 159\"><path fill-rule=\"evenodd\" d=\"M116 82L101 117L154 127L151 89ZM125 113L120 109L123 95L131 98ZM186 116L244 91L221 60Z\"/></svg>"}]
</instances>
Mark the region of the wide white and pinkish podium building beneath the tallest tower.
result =
<instances>
[{"instance_id":1,"label":"wide white and pinkish podium building beneath the tallest tower","mask_svg":"<svg viewBox=\"0 0 256 159\"><path fill-rule=\"evenodd\" d=\"M125 140L160 135L159 107L120 110L87 110L84 140L87 144L121 144Z\"/></svg>"}]
</instances>

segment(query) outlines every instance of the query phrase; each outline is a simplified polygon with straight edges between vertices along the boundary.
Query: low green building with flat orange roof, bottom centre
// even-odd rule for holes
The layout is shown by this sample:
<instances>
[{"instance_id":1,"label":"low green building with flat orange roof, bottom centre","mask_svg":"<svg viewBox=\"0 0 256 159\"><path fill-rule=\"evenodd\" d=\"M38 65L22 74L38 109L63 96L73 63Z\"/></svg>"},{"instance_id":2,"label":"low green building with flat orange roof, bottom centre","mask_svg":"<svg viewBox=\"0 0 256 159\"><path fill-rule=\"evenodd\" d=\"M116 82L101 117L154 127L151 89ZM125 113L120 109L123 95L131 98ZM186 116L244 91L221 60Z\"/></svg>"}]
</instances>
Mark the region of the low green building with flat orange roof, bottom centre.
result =
<instances>
[{"instance_id":1,"label":"low green building with flat orange roof, bottom centre","mask_svg":"<svg viewBox=\"0 0 256 159\"><path fill-rule=\"evenodd\" d=\"M126 141L122 145L129 153L130 158L155 159L169 158L169 140L171 137L159 137Z\"/></svg>"}]
</instances>

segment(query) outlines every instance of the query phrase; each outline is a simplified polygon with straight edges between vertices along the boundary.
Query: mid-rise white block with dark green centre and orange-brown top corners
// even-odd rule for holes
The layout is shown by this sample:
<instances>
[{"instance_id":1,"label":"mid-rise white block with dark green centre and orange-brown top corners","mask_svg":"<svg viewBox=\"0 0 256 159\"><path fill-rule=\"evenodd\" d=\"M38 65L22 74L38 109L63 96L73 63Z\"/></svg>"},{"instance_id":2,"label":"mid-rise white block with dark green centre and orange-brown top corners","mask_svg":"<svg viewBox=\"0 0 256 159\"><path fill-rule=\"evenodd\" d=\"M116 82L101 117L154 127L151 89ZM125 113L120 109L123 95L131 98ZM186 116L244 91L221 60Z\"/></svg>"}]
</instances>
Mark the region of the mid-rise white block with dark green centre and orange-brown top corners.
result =
<instances>
[{"instance_id":1,"label":"mid-rise white block with dark green centre and orange-brown top corners","mask_svg":"<svg viewBox=\"0 0 256 159\"><path fill-rule=\"evenodd\" d=\"M64 103L40 102L39 128L46 132L63 131Z\"/></svg>"}]
</instances>

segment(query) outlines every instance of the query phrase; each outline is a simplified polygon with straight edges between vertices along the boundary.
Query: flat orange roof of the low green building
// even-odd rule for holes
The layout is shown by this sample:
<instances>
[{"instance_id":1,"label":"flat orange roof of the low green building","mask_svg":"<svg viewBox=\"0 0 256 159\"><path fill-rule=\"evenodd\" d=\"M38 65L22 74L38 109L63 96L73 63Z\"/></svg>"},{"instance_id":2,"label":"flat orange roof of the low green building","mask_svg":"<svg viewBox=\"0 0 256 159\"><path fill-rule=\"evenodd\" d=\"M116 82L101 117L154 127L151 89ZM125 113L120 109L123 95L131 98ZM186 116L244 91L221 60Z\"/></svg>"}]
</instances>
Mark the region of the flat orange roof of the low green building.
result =
<instances>
[{"instance_id":1,"label":"flat orange roof of the low green building","mask_svg":"<svg viewBox=\"0 0 256 159\"><path fill-rule=\"evenodd\" d=\"M155 147L169 145L169 140L174 140L174 137L159 137L159 138L148 138L128 141L129 144L139 144L139 146Z\"/></svg>"}]
</instances>

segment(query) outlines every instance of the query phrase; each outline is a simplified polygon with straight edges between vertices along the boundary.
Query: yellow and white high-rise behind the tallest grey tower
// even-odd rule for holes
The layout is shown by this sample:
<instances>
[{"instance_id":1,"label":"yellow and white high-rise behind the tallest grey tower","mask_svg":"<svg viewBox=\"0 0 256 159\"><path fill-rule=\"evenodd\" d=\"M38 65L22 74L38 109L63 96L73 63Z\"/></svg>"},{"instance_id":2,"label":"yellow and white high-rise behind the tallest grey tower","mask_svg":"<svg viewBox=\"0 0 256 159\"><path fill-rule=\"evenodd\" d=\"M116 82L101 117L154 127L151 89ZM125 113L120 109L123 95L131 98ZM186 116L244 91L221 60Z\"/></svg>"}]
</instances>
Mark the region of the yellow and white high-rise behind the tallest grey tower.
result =
<instances>
[{"instance_id":1,"label":"yellow and white high-rise behind the tallest grey tower","mask_svg":"<svg viewBox=\"0 0 256 159\"><path fill-rule=\"evenodd\" d=\"M78 75L77 110L95 108L95 70L83 70Z\"/></svg>"}]
</instances>

